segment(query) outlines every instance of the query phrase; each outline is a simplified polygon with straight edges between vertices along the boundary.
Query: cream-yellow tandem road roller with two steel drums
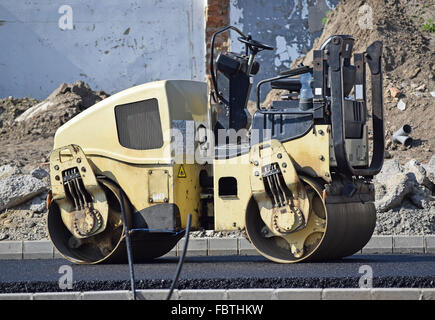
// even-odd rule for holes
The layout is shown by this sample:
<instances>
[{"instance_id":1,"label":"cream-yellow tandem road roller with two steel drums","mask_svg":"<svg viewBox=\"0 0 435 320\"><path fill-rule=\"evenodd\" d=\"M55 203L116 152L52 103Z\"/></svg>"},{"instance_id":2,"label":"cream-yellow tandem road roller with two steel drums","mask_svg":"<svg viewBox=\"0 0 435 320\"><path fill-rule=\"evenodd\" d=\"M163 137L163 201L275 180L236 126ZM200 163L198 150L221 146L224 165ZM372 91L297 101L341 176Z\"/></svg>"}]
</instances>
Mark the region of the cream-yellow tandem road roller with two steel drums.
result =
<instances>
[{"instance_id":1,"label":"cream-yellow tandem road roller with two steel drums","mask_svg":"<svg viewBox=\"0 0 435 320\"><path fill-rule=\"evenodd\" d=\"M244 51L216 54L216 36L230 31ZM50 156L53 245L74 263L112 263L127 261L129 240L146 261L176 245L191 215L192 230L245 230L279 263L361 250L384 160L382 43L353 44L332 36L312 66L259 81L248 112L256 55L273 48L228 26L211 39L210 85L146 83L65 123ZM265 108L261 89L283 95Z\"/></svg>"}]
</instances>

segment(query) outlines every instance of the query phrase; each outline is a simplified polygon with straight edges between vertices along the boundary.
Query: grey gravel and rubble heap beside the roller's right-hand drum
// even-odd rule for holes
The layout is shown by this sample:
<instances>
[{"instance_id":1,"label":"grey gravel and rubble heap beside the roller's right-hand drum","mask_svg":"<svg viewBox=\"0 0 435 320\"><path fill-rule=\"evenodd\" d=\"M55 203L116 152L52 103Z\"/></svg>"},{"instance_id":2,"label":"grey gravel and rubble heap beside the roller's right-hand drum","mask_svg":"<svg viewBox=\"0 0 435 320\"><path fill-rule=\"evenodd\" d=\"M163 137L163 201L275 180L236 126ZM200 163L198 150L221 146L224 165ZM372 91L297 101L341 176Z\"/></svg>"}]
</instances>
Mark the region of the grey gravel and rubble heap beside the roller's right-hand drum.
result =
<instances>
[{"instance_id":1,"label":"grey gravel and rubble heap beside the roller's right-hand drum","mask_svg":"<svg viewBox=\"0 0 435 320\"><path fill-rule=\"evenodd\" d=\"M375 234L435 234L435 156L427 164L385 161L375 188Z\"/></svg>"}]
</instances>

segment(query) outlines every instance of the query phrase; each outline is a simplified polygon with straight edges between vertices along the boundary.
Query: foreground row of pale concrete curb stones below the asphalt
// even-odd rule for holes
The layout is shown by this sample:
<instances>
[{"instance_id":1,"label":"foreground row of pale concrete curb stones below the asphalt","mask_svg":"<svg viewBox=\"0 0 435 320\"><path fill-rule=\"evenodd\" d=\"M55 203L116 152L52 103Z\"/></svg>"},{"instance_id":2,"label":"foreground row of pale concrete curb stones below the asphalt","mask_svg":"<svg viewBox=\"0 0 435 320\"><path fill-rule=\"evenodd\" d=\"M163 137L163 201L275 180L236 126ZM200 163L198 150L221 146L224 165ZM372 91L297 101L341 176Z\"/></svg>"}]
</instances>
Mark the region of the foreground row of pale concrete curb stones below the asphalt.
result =
<instances>
[{"instance_id":1,"label":"foreground row of pale concrete curb stones below the asphalt","mask_svg":"<svg viewBox=\"0 0 435 320\"><path fill-rule=\"evenodd\" d=\"M168 289L137 290L138 300L165 300ZM130 291L0 294L0 300L131 300ZM435 288L174 290L171 300L435 300Z\"/></svg>"}]
</instances>

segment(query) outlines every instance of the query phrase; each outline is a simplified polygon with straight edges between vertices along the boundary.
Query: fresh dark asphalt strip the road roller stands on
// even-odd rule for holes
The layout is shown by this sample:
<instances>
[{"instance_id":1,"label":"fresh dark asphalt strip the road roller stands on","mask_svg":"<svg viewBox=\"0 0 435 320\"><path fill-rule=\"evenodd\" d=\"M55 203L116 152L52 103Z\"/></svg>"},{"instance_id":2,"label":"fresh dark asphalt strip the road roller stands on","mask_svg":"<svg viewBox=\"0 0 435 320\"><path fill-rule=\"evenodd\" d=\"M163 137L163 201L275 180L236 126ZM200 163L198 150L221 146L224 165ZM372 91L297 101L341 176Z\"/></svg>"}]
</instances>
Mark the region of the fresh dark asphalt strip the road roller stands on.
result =
<instances>
[{"instance_id":1,"label":"fresh dark asphalt strip the road roller stands on","mask_svg":"<svg viewBox=\"0 0 435 320\"><path fill-rule=\"evenodd\" d=\"M135 265L139 289L169 288L178 258ZM129 289L127 264L74 265L63 259L0 261L0 293L60 291L63 265L73 290ZM354 255L338 261L278 264L260 256L186 257L178 288L359 287L367 266L374 287L435 287L435 255ZM361 269L360 269L361 268Z\"/></svg>"}]
</instances>

